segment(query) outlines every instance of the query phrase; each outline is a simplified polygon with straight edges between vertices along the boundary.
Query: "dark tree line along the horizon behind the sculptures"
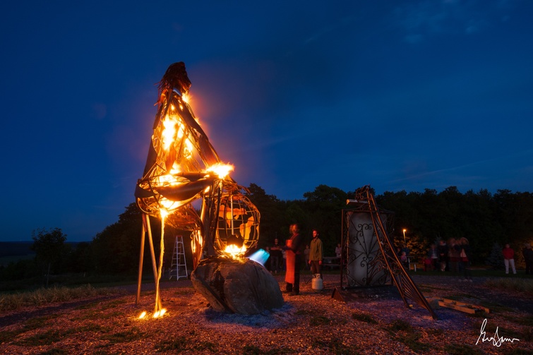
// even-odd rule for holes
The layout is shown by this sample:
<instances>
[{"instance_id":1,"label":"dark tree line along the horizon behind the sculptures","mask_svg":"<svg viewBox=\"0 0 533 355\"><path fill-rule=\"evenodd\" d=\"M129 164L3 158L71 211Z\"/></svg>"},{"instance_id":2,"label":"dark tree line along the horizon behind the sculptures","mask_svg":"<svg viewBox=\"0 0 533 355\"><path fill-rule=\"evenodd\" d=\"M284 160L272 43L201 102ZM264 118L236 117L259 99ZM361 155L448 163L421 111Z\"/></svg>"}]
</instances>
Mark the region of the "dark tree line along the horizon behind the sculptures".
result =
<instances>
[{"instance_id":1,"label":"dark tree line along the horizon behind the sculptures","mask_svg":"<svg viewBox=\"0 0 533 355\"><path fill-rule=\"evenodd\" d=\"M289 237L289 225L299 223L308 243L312 230L318 229L325 255L335 255L342 233L342 210L347 209L346 200L354 198L353 191L320 185L298 200L280 200L255 183L248 186L248 191L246 195L261 215L259 248L269 246L276 238L283 242ZM404 242L403 230L406 229L405 241L415 255L424 255L432 243L441 239L464 236L472 247L474 265L499 265L501 255L498 253L505 243L515 249L517 264L521 265L520 251L524 243L533 243L533 194L529 192L498 190L490 193L481 189L460 193L457 187L450 186L441 192L433 189L385 192L375 198L379 207L394 213L390 236L399 245ZM66 235L61 229L34 231L35 260L20 260L0 268L1 279L49 275L50 272L135 275L139 264L141 220L140 210L131 203L117 222L105 227L92 241L78 243L76 248L64 246ZM160 222L150 220L158 255ZM165 267L170 266L176 235L184 237L187 265L192 265L187 242L190 241L189 232L166 227L164 234ZM53 251L47 250L43 242L48 242ZM148 243L145 248L144 271L151 272Z\"/></svg>"}]
</instances>

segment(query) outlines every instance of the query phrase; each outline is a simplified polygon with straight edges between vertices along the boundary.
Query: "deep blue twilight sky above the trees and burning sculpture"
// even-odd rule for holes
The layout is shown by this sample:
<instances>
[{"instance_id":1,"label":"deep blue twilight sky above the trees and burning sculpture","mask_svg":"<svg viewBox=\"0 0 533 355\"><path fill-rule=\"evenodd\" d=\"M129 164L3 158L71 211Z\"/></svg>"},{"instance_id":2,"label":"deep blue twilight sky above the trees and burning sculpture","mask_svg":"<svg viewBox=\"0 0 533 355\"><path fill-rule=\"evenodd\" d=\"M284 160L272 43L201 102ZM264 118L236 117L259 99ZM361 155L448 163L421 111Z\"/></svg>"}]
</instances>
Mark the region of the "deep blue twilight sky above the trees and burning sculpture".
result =
<instances>
[{"instance_id":1,"label":"deep blue twilight sky above the trees and burning sculpture","mask_svg":"<svg viewBox=\"0 0 533 355\"><path fill-rule=\"evenodd\" d=\"M259 4L258 4L259 3ZM157 83L241 185L533 191L533 1L4 1L0 240L134 201Z\"/></svg>"}]
</instances>

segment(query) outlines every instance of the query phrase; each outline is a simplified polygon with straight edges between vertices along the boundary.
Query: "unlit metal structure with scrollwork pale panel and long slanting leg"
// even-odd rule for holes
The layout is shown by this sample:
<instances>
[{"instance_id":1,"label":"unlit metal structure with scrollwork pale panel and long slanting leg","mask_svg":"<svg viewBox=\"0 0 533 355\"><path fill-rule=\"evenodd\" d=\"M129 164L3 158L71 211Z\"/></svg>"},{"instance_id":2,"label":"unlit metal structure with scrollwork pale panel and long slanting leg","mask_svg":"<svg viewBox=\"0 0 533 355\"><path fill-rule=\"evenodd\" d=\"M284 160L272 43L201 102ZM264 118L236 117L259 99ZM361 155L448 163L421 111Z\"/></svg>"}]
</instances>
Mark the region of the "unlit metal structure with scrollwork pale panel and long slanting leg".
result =
<instances>
[{"instance_id":1,"label":"unlit metal structure with scrollwork pale panel and long slanting leg","mask_svg":"<svg viewBox=\"0 0 533 355\"><path fill-rule=\"evenodd\" d=\"M385 284L390 279L407 308L411 308L407 302L411 299L437 319L395 253L388 236L392 212L378 208L368 185L358 188L354 200L347 204L354 210L345 210L342 215L341 288Z\"/></svg>"}]
</instances>

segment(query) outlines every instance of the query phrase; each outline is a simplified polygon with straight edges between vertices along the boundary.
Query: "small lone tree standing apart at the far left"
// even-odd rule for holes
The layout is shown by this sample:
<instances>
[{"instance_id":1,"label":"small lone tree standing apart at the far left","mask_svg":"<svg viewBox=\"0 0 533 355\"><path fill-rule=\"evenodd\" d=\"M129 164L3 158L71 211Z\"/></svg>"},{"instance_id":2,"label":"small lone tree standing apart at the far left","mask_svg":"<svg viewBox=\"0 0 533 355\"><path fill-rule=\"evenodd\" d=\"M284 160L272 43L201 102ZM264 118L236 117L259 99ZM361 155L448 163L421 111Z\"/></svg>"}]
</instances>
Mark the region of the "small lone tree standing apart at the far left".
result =
<instances>
[{"instance_id":1,"label":"small lone tree standing apart at the far left","mask_svg":"<svg viewBox=\"0 0 533 355\"><path fill-rule=\"evenodd\" d=\"M32 231L32 239L35 260L46 270L46 287L48 287L50 272L54 270L53 266L58 265L66 254L66 234L63 234L59 228L37 229L37 231Z\"/></svg>"}]
</instances>

